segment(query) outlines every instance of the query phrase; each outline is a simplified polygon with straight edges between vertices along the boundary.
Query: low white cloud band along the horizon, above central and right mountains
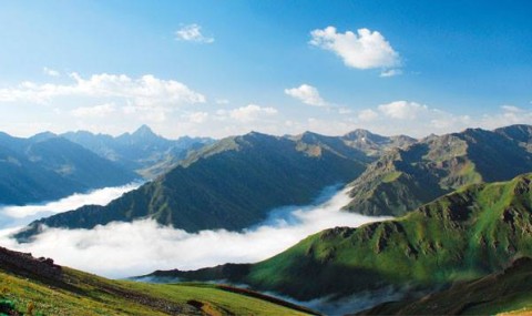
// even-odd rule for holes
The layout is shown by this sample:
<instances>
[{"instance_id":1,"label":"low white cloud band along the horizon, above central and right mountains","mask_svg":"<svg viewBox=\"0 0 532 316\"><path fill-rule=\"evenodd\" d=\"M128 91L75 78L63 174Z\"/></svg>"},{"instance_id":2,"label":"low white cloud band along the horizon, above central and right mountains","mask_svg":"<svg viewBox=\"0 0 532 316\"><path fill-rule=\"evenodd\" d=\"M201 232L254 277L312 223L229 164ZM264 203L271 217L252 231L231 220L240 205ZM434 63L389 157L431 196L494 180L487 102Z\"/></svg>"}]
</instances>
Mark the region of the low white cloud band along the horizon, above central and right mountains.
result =
<instances>
[{"instance_id":1,"label":"low white cloud band along the horizon, above central and right mountains","mask_svg":"<svg viewBox=\"0 0 532 316\"><path fill-rule=\"evenodd\" d=\"M275 135L299 134L305 131L326 135L341 135L355 129L367 129L383 135L407 134L423 137L430 133L459 132L466 128L492 130L510 124L532 124L530 106L509 108L512 105L507 105L490 114L471 115L443 111L421 102L408 100L381 105L380 108L376 105L360 110L354 106L351 113L349 113L349 109L341 106L334 108L335 111L319 111L319 114L304 111L295 115L288 115L279 109L277 114L268 115L256 111L262 114L255 116L255 120L244 120L242 118L241 113L245 113L246 111L243 109L247 106L233 110L214 109L213 112L206 111L209 114L206 123L180 124L180 128L184 133L195 131L203 133L202 135L216 133L218 137L244 134L249 131L260 131ZM250 109L253 110L254 106Z\"/></svg>"}]
</instances>

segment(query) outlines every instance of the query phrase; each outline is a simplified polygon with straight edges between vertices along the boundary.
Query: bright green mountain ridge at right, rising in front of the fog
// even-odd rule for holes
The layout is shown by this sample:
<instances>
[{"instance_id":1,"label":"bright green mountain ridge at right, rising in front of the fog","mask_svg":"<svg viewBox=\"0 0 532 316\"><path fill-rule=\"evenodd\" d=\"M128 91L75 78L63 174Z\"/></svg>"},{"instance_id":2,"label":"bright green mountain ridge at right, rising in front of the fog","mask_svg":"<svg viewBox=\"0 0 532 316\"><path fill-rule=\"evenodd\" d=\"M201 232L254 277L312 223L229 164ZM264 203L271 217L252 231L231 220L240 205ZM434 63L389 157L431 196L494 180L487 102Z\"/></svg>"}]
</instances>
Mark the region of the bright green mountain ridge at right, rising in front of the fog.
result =
<instances>
[{"instance_id":1,"label":"bright green mountain ridge at right, rising in front of the fog","mask_svg":"<svg viewBox=\"0 0 532 316\"><path fill-rule=\"evenodd\" d=\"M393 221L326 230L257 264L151 276L247 284L300 300L368 290L378 297L386 289L380 298L386 302L392 289L438 288L502 271L532 256L531 245L532 174L526 174L470 185Z\"/></svg>"}]
</instances>

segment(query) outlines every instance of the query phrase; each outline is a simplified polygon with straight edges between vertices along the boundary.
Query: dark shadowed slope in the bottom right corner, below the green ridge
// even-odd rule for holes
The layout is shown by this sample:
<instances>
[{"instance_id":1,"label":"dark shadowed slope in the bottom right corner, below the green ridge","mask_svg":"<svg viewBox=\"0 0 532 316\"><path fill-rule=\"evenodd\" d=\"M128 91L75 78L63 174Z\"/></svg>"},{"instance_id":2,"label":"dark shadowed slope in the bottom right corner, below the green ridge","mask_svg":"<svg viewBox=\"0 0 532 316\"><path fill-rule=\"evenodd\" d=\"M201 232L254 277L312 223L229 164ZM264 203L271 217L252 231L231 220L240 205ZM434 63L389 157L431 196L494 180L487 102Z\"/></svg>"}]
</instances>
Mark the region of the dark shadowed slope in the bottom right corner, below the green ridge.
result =
<instances>
[{"instance_id":1,"label":"dark shadowed slope in the bottom right corner, below the green ridge","mask_svg":"<svg viewBox=\"0 0 532 316\"><path fill-rule=\"evenodd\" d=\"M522 257L503 272L427 295L390 302L360 315L495 315L532 313L532 259Z\"/></svg>"}]
</instances>

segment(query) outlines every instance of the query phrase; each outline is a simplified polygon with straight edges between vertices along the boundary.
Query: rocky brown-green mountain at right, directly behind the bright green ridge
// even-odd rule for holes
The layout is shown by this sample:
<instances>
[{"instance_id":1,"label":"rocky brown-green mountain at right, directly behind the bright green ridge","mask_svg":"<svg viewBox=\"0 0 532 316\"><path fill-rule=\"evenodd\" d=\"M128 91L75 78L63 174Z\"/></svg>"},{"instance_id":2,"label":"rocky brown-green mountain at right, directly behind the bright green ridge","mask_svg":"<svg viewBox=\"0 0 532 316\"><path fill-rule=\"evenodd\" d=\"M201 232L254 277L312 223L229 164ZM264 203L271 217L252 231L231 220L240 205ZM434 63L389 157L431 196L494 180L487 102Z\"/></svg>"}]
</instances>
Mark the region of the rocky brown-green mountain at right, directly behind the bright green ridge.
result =
<instances>
[{"instance_id":1,"label":"rocky brown-green mountain at right, directly behind the bright green ridge","mask_svg":"<svg viewBox=\"0 0 532 316\"><path fill-rule=\"evenodd\" d=\"M385 153L350 185L346 210L402 215L463 185L505 181L532 171L532 128L468 129Z\"/></svg>"}]
</instances>

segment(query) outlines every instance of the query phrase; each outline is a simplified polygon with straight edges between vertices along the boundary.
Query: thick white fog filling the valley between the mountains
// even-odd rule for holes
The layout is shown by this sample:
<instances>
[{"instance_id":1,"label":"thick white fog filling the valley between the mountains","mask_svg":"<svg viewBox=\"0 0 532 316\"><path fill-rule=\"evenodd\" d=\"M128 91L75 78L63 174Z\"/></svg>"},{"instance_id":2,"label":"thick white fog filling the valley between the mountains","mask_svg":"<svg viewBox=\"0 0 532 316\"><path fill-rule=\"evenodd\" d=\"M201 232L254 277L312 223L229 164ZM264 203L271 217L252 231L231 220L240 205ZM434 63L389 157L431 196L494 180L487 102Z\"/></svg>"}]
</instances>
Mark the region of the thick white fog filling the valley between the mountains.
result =
<instances>
[{"instance_id":1,"label":"thick white fog filling the valley between the mountains","mask_svg":"<svg viewBox=\"0 0 532 316\"><path fill-rule=\"evenodd\" d=\"M0 214L2 217L28 218L44 212L59 213L81 206L75 201L105 204L119 195L116 190L104 188L83 197L63 198L48 206L4 207L0 208ZM19 244L10 238L10 234L21 226L3 225L0 245L30 252L34 256L51 257L60 265L113 278L142 275L155 269L196 269L224 263L254 263L276 255L325 228L356 227L389 218L341 212L340 208L348 202L347 188L329 187L316 203L274 210L263 224L243 232L216 230L186 233L162 226L153 220L142 220L133 223L114 222L93 230L45 228L34 242ZM20 223L23 224L27 223Z\"/></svg>"}]
</instances>

